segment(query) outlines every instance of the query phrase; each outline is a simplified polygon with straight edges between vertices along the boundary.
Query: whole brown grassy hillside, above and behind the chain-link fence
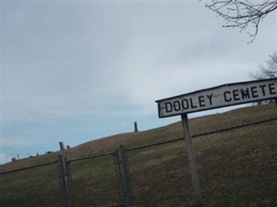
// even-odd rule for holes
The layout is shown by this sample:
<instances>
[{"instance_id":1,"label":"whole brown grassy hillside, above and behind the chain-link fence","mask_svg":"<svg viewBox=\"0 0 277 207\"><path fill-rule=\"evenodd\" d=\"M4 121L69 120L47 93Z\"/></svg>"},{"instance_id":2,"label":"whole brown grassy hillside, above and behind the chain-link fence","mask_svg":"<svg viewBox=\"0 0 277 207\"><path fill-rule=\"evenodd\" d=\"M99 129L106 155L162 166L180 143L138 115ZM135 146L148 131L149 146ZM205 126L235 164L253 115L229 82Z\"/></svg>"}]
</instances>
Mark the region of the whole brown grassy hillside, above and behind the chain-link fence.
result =
<instances>
[{"instance_id":1,"label":"whole brown grassy hillside, above and behind the chain-link fence","mask_svg":"<svg viewBox=\"0 0 277 207\"><path fill-rule=\"evenodd\" d=\"M190 119L193 134L277 117L275 104ZM193 139L203 206L277 206L277 121ZM89 141L75 159L182 136L181 123ZM0 166L0 172L57 159L57 152ZM194 206L184 141L128 152L135 206ZM120 202L113 157L71 164L75 206ZM0 206L62 206L55 165L0 175Z\"/></svg>"}]
</instances>

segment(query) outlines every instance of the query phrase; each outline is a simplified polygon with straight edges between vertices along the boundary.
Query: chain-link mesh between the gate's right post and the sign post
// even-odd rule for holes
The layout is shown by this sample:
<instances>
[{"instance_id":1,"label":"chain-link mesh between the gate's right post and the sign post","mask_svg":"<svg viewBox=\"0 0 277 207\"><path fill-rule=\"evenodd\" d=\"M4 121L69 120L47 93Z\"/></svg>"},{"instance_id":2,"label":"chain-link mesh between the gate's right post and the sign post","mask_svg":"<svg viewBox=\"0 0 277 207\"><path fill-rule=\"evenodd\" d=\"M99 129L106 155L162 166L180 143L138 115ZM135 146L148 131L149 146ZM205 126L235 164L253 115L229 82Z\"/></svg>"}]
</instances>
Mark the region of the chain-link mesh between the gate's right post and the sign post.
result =
<instances>
[{"instance_id":1,"label":"chain-link mesh between the gate's right post and the sign post","mask_svg":"<svg viewBox=\"0 0 277 207\"><path fill-rule=\"evenodd\" d=\"M128 152L134 206L186 206L193 199L184 140Z\"/></svg>"}]
</instances>

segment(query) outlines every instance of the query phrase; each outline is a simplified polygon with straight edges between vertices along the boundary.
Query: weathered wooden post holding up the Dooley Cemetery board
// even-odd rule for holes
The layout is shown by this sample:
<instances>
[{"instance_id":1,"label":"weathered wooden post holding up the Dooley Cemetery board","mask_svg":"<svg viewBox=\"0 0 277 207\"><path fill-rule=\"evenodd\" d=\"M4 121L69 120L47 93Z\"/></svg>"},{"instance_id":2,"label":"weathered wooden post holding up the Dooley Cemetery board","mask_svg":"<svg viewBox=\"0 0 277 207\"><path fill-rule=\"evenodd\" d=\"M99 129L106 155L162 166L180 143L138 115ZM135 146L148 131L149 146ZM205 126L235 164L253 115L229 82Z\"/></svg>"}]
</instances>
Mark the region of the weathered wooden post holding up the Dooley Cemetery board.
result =
<instances>
[{"instance_id":1,"label":"weathered wooden post holding up the Dooley Cemetery board","mask_svg":"<svg viewBox=\"0 0 277 207\"><path fill-rule=\"evenodd\" d=\"M190 134L190 126L188 124L188 115L181 115L181 122L183 126L183 133L186 141L186 150L188 151L188 162L190 166L190 175L193 181L193 192L198 203L202 202L202 193L200 188L200 181L197 172L196 159L195 159L195 150L193 148L193 141Z\"/></svg>"}]
</instances>

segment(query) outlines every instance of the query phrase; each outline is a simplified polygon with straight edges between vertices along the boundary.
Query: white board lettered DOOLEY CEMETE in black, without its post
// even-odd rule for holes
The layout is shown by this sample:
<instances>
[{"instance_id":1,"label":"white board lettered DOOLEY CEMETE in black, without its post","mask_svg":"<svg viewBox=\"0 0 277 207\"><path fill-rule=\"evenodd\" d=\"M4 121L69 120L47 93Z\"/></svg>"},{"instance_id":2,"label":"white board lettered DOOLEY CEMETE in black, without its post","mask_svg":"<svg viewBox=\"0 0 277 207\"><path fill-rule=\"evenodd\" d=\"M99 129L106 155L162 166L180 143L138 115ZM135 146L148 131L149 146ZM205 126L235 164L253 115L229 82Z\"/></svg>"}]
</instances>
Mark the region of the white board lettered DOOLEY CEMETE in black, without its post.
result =
<instances>
[{"instance_id":1,"label":"white board lettered DOOLEY CEMETE in black, without its post","mask_svg":"<svg viewBox=\"0 0 277 207\"><path fill-rule=\"evenodd\" d=\"M229 83L156 101L159 117L277 98L277 79Z\"/></svg>"}]
</instances>

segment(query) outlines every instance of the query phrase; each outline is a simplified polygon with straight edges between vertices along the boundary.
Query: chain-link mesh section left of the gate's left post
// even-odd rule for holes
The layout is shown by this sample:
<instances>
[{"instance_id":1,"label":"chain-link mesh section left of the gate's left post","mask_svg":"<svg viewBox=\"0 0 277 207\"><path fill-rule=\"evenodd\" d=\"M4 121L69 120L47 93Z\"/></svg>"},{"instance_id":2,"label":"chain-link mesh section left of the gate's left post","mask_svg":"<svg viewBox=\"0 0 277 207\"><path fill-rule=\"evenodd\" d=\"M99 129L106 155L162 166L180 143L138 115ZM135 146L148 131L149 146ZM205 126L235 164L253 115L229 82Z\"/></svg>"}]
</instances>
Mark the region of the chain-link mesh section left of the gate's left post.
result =
<instances>
[{"instance_id":1,"label":"chain-link mesh section left of the gate's left post","mask_svg":"<svg viewBox=\"0 0 277 207\"><path fill-rule=\"evenodd\" d=\"M0 206L62 206L57 164L0 175Z\"/></svg>"}]
</instances>

